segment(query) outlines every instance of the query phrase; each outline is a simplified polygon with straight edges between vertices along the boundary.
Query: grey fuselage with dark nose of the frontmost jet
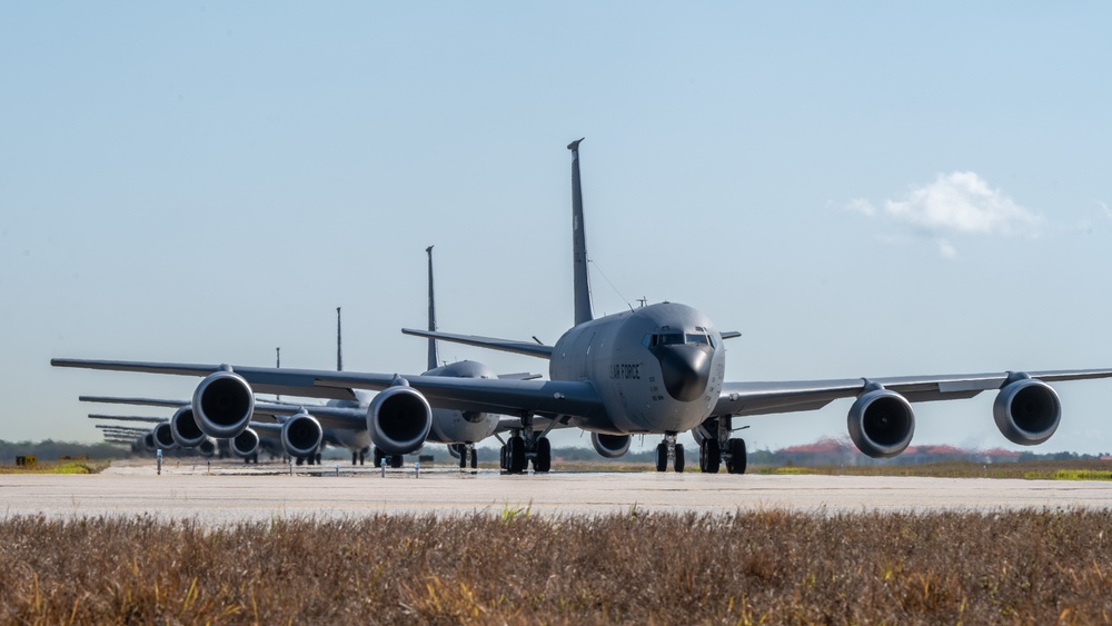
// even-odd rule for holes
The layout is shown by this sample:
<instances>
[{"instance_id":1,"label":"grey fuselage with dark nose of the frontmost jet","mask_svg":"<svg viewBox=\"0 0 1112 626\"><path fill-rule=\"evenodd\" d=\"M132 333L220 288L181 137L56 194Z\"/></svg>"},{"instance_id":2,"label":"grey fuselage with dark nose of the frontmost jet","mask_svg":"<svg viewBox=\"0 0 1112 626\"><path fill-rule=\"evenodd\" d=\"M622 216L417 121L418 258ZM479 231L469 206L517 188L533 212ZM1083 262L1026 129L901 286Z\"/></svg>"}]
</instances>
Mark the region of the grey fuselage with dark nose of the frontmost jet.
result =
<instances>
[{"instance_id":1,"label":"grey fuselage with dark nose of the frontmost jet","mask_svg":"<svg viewBox=\"0 0 1112 626\"><path fill-rule=\"evenodd\" d=\"M606 415L573 418L615 435L682 433L706 419L722 389L722 335L702 312L663 302L585 321L556 342L553 380L588 380Z\"/></svg>"}]
</instances>

